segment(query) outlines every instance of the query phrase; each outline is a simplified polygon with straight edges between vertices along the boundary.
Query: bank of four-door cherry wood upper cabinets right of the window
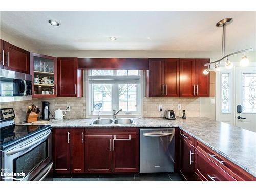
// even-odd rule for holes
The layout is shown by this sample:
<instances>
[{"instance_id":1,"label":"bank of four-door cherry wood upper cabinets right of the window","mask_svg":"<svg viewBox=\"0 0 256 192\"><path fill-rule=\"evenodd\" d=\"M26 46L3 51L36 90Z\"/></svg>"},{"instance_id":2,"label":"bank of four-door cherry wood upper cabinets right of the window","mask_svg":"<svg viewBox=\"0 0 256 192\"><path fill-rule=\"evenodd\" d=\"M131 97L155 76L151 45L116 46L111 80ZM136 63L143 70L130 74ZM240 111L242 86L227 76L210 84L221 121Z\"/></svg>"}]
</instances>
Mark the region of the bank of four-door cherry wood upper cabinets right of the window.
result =
<instances>
[{"instance_id":1,"label":"bank of four-door cherry wood upper cabinets right of the window","mask_svg":"<svg viewBox=\"0 0 256 192\"><path fill-rule=\"evenodd\" d=\"M209 59L149 59L147 97L209 97Z\"/></svg>"}]
</instances>

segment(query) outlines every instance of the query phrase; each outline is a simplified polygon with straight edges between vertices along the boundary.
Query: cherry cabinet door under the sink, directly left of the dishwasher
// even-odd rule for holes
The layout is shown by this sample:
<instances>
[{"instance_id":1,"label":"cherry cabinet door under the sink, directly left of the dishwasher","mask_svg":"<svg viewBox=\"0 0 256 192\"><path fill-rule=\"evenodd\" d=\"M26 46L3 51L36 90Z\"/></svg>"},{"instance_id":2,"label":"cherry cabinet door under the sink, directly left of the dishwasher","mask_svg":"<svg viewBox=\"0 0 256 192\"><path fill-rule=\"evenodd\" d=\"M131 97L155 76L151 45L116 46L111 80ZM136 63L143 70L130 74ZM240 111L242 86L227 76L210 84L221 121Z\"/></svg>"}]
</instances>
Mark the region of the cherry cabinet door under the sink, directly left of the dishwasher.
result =
<instances>
[{"instance_id":1,"label":"cherry cabinet door under the sink, directly left of the dishwasher","mask_svg":"<svg viewBox=\"0 0 256 192\"><path fill-rule=\"evenodd\" d=\"M139 171L139 135L113 136L113 172Z\"/></svg>"}]
</instances>

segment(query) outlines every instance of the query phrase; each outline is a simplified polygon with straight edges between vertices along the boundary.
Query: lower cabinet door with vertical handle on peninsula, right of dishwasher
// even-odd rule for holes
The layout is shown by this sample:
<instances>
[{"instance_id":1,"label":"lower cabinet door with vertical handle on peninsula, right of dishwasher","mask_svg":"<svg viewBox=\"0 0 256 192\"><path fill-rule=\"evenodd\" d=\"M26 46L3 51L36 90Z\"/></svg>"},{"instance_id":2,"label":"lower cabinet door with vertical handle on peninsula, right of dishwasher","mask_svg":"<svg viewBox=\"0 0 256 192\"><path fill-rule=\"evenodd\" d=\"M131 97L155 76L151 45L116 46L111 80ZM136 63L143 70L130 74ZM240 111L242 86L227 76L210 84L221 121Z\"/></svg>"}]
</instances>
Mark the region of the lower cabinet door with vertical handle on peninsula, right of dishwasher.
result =
<instances>
[{"instance_id":1,"label":"lower cabinet door with vertical handle on peninsula, right of dishwasher","mask_svg":"<svg viewBox=\"0 0 256 192\"><path fill-rule=\"evenodd\" d=\"M180 138L180 173L187 181L194 181L194 153L194 147Z\"/></svg>"}]
</instances>

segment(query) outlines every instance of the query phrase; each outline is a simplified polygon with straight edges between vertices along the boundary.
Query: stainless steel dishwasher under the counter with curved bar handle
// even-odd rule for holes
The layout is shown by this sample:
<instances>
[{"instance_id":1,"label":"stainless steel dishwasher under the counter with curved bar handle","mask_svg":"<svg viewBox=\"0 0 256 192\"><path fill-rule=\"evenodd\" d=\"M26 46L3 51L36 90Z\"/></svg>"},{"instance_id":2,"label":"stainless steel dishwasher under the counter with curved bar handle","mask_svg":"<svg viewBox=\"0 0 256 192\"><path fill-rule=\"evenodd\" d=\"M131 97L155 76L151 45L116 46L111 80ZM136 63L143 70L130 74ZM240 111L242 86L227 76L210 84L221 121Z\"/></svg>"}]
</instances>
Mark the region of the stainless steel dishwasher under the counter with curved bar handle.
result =
<instances>
[{"instance_id":1,"label":"stainless steel dishwasher under the counter with curved bar handle","mask_svg":"<svg viewBox=\"0 0 256 192\"><path fill-rule=\"evenodd\" d=\"M140 173L174 172L175 129L140 129Z\"/></svg>"}]
</instances>

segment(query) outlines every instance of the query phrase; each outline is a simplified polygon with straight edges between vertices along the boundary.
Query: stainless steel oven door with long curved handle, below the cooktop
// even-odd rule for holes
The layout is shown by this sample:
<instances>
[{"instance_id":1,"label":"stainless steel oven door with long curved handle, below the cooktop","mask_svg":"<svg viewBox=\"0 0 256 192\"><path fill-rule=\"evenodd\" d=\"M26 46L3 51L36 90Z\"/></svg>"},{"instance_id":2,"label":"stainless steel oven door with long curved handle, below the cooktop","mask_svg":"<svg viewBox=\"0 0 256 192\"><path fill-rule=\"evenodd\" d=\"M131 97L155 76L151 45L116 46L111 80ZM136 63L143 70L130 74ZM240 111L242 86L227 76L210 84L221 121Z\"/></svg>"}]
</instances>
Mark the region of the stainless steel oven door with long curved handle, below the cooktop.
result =
<instances>
[{"instance_id":1,"label":"stainless steel oven door with long curved handle, below the cooktop","mask_svg":"<svg viewBox=\"0 0 256 192\"><path fill-rule=\"evenodd\" d=\"M49 129L4 150L2 180L30 181L44 170L52 160L51 137Z\"/></svg>"}]
</instances>

